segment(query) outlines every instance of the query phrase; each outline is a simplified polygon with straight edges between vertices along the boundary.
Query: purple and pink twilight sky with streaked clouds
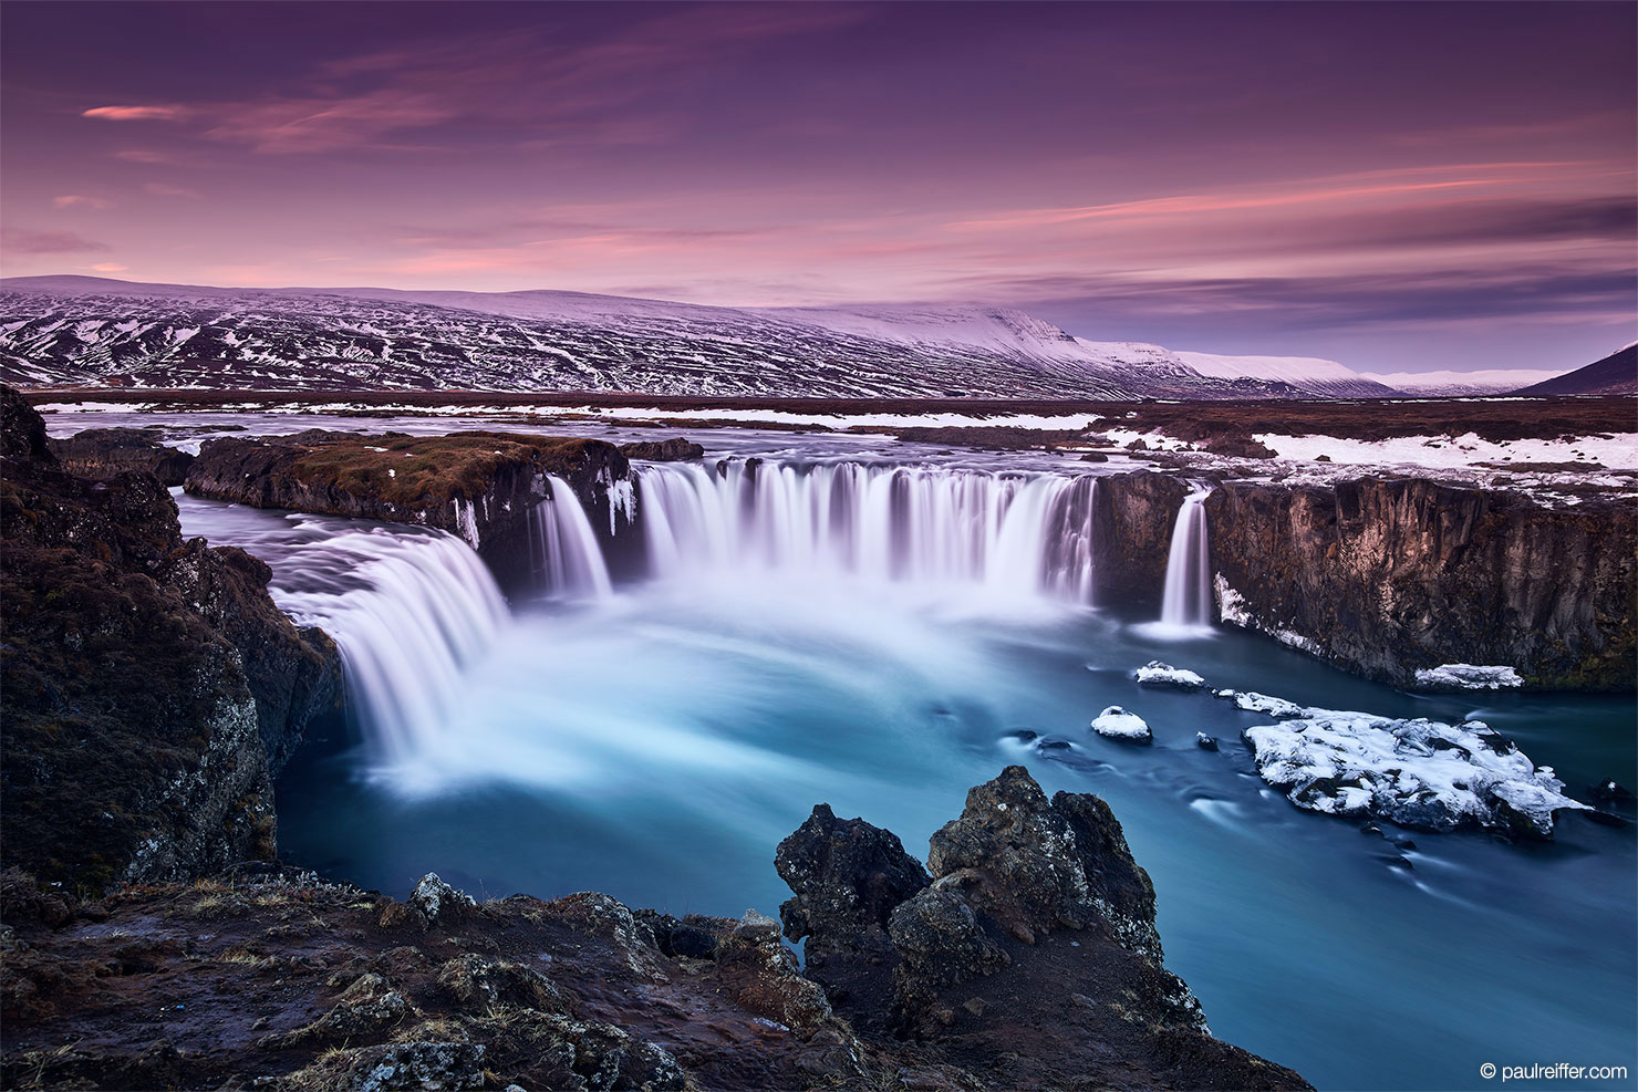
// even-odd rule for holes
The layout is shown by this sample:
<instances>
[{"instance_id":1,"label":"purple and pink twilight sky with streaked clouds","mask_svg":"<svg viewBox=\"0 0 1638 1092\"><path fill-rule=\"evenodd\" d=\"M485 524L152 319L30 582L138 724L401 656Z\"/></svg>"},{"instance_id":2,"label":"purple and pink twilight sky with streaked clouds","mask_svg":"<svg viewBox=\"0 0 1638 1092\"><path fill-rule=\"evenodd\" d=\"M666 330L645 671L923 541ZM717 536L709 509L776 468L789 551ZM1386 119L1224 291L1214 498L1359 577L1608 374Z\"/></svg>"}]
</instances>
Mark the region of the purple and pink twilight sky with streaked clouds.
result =
<instances>
[{"instance_id":1,"label":"purple and pink twilight sky with streaked clouds","mask_svg":"<svg viewBox=\"0 0 1638 1092\"><path fill-rule=\"evenodd\" d=\"M1638 337L1631 3L0 8L0 272Z\"/></svg>"}]
</instances>

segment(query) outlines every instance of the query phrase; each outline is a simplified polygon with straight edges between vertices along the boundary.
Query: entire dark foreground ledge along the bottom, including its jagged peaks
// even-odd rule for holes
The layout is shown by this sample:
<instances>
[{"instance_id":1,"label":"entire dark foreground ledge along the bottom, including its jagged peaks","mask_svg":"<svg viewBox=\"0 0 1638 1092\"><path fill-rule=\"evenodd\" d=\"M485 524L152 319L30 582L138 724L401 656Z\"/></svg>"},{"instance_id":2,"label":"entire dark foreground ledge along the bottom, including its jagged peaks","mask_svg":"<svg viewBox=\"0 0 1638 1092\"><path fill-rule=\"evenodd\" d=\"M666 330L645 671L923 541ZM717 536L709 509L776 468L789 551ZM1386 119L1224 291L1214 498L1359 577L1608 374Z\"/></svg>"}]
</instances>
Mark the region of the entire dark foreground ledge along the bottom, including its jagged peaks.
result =
<instances>
[{"instance_id":1,"label":"entire dark foreground ledge along the bottom, including its jagged peaks","mask_svg":"<svg viewBox=\"0 0 1638 1092\"><path fill-rule=\"evenodd\" d=\"M778 851L806 974L755 910L478 904L436 876L396 902L278 869L77 902L8 873L0 1072L288 1092L1309 1087L1206 1033L1097 797L1048 802L1007 768L929 860L816 807Z\"/></svg>"}]
</instances>

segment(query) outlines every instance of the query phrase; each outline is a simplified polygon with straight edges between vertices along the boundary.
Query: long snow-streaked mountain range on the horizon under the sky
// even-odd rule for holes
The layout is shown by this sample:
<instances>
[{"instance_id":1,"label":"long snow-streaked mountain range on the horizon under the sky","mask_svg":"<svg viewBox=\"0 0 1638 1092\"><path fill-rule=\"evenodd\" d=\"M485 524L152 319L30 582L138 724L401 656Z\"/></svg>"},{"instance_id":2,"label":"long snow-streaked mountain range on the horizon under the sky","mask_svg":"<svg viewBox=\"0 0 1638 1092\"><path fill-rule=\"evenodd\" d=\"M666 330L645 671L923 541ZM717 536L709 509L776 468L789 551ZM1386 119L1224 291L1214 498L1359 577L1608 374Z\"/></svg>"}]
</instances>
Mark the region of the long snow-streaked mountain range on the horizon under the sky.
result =
<instances>
[{"instance_id":1,"label":"long snow-streaked mountain range on the horizon under the sky","mask_svg":"<svg viewBox=\"0 0 1638 1092\"><path fill-rule=\"evenodd\" d=\"M1546 375L1451 375L1459 391L1438 393ZM25 386L1224 399L1384 398L1419 378L1086 341L988 306L0 280L0 380Z\"/></svg>"}]
</instances>

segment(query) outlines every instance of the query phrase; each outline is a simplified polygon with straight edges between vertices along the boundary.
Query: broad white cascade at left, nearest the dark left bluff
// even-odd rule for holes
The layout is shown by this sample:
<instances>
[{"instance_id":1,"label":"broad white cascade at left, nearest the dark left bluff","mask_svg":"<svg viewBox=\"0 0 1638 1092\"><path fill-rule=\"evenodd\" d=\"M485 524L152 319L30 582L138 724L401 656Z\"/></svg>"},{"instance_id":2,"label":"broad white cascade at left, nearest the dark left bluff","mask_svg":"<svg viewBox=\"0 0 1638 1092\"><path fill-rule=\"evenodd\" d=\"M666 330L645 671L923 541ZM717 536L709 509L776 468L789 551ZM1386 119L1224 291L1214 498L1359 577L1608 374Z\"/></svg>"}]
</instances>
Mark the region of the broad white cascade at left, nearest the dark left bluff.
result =
<instances>
[{"instance_id":1,"label":"broad white cascade at left, nearest the dark left bluff","mask_svg":"<svg viewBox=\"0 0 1638 1092\"><path fill-rule=\"evenodd\" d=\"M464 699L462 675L508 617L488 568L444 532L372 527L310 539L280 565L272 594L336 639L351 712L390 756L441 732Z\"/></svg>"}]
</instances>

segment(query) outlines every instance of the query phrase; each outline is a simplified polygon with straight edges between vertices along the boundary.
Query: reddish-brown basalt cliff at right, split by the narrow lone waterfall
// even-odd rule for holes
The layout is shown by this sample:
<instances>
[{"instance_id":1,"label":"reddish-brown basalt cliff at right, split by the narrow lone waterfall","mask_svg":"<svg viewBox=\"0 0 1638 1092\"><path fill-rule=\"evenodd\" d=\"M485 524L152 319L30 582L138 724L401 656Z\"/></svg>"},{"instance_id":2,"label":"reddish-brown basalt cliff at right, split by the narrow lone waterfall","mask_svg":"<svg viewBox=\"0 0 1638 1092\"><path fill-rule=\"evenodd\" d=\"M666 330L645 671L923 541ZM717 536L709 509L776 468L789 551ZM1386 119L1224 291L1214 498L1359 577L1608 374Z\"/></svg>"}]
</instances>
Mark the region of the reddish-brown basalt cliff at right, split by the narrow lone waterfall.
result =
<instances>
[{"instance_id":1,"label":"reddish-brown basalt cliff at right, split by the narrow lone waterfall","mask_svg":"<svg viewBox=\"0 0 1638 1092\"><path fill-rule=\"evenodd\" d=\"M1160 588L1183 481L1099 483L1099 566ZM1446 663L1512 666L1533 688L1630 689L1638 511L1569 508L1427 478L1332 486L1222 481L1206 501L1225 622L1369 678Z\"/></svg>"}]
</instances>

